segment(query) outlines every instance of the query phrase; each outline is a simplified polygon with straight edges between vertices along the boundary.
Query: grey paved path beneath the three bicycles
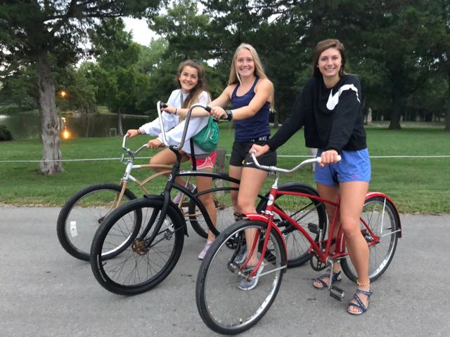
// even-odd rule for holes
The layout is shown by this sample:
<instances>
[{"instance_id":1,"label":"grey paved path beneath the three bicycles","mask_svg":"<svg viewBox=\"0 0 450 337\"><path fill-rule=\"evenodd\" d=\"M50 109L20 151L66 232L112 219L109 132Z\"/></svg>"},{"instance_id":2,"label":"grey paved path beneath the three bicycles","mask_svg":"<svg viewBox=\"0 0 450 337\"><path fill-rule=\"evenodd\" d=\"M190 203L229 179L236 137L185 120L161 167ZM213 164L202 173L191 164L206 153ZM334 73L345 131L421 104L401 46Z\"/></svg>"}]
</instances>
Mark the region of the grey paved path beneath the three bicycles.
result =
<instances>
[{"instance_id":1,"label":"grey paved path beneath the three bicycles","mask_svg":"<svg viewBox=\"0 0 450 337\"><path fill-rule=\"evenodd\" d=\"M158 287L117 296L97 284L88 263L69 256L56 237L59 209L0 208L0 336L218 336L195 306L194 232L181 260ZM309 265L289 270L266 316L240 336L450 336L450 215L401 216L403 238L385 275L372 285L364 317L316 291ZM238 303L237 303L238 304Z\"/></svg>"}]
</instances>

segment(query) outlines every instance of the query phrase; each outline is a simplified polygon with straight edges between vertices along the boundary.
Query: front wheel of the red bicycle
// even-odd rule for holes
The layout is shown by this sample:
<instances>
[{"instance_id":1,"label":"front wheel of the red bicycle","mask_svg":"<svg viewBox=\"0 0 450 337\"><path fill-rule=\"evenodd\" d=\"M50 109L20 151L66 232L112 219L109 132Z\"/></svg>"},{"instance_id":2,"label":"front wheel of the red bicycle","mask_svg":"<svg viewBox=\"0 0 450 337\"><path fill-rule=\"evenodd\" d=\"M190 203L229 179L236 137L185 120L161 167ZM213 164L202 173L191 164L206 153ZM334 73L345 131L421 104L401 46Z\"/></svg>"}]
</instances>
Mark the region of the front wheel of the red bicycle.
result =
<instances>
[{"instance_id":1,"label":"front wheel of the red bicycle","mask_svg":"<svg viewBox=\"0 0 450 337\"><path fill-rule=\"evenodd\" d=\"M238 221L221 232L200 265L195 288L197 308L203 322L217 333L236 334L250 329L276 298L286 267L283 240L276 230L268 234L270 253L264 256L264 267L259 267L255 289L243 291L238 287L249 276L236 262L245 244L245 230L259 233L260 246L267 235L266 228L262 222ZM262 247L257 251L262 251Z\"/></svg>"}]
</instances>

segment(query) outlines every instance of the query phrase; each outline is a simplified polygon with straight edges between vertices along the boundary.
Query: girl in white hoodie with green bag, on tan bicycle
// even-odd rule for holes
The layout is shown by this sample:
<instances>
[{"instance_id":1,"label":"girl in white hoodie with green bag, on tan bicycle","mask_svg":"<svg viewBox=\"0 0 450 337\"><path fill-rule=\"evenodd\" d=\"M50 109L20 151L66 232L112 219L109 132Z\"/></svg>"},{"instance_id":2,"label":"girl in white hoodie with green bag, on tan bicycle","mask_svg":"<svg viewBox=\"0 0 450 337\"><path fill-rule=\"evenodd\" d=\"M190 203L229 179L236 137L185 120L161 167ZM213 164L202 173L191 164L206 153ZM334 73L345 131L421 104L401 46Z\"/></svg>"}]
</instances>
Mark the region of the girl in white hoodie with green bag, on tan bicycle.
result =
<instances>
[{"instance_id":1,"label":"girl in white hoodie with green bag, on tan bicycle","mask_svg":"<svg viewBox=\"0 0 450 337\"><path fill-rule=\"evenodd\" d=\"M189 107L192 105L200 104L206 106L211 101L210 95L206 91L205 72L198 62L193 60L181 62L178 72L176 73L176 80L178 81L179 88L172 91L169 100L167 100L167 107L162 108L162 111L166 112L162 114L162 124L165 128L167 143L163 143L159 118L150 121L150 123L143 124L143 126L138 129L127 131L129 138L136 135L157 136L157 138L148 141L147 147L149 149L158 149L159 147L166 146L164 150L158 152L158 154L155 154L155 156L150 159L150 164L171 165L176 162L174 152L169 150L167 146L179 145L185 125L185 121L182 117L186 116ZM191 121L189 121L186 139L184 146L181 149L181 154L183 154L182 161L191 159L192 163L191 142L189 140L205 128L207 122L208 117L192 117ZM193 147L197 169L199 171L212 172L216 160L216 151L214 150L211 153L205 152L205 150L195 144L195 142L193 142ZM158 169L155 169L155 171L158 171ZM198 192L211 188L212 178L197 177L196 179ZM180 177L176 178L176 183L186 185L186 182ZM188 188L195 190L195 185L189 184ZM181 192L175 197L174 202L179 201L179 198L181 198ZM204 194L203 196L200 196L199 199L207 209L212 223L215 225L217 214L214 201L212 200L212 194ZM205 257L205 253L210 248L212 242L214 242L214 239L214 234L208 232L207 242L198 258L203 259Z\"/></svg>"}]
</instances>

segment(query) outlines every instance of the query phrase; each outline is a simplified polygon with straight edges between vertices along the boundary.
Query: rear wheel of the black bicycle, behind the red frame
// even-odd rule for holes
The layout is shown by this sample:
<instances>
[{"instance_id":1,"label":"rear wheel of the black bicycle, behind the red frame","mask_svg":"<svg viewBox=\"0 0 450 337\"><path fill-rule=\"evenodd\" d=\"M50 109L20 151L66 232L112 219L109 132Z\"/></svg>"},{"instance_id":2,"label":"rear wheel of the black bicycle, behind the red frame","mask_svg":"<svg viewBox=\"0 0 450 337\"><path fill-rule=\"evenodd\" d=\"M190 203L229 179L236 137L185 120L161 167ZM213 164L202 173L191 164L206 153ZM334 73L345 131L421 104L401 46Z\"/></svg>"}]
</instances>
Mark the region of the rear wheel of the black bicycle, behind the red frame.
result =
<instances>
[{"instance_id":1,"label":"rear wheel of the black bicycle, behind the red frame","mask_svg":"<svg viewBox=\"0 0 450 337\"><path fill-rule=\"evenodd\" d=\"M311 194L319 197L319 193L313 187L302 183L287 183L278 187L278 190ZM275 204L278 209L284 211L290 218L293 218L301 225L315 242L319 242L319 240L323 239L326 235L327 215L323 202L309 197L284 194L276 198ZM257 212L261 213L265 207L266 199L263 199L257 206ZM286 251L288 252L288 268L299 267L300 265L307 263L311 258L311 254L308 253L308 249L311 246L309 241L300 231L296 230L293 225L290 225L287 220L279 218L277 214L275 214L274 222L280 228L281 233L284 236ZM311 224L314 225L316 229L320 229L321 234L319 234L319 232L311 232L309 228L311 227Z\"/></svg>"}]
</instances>

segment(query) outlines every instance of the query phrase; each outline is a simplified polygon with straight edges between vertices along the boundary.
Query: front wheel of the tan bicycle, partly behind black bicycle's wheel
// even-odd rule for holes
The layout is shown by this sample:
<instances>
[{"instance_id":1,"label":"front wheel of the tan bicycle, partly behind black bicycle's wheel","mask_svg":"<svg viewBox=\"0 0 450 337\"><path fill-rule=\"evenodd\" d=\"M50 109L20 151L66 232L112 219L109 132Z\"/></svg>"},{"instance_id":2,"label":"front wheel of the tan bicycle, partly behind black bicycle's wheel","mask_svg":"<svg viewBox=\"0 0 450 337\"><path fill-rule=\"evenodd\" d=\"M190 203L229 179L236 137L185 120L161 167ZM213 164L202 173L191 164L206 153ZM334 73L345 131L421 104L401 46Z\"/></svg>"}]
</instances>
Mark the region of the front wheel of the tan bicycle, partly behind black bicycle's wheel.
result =
<instances>
[{"instance_id":1,"label":"front wheel of the tan bicycle, partly behind black bicycle's wheel","mask_svg":"<svg viewBox=\"0 0 450 337\"><path fill-rule=\"evenodd\" d=\"M58 240L74 258L89 261L92 239L99 225L113 211L115 198L122 185L100 183L79 190L64 204L56 221ZM121 204L136 199L125 190Z\"/></svg>"}]
</instances>

